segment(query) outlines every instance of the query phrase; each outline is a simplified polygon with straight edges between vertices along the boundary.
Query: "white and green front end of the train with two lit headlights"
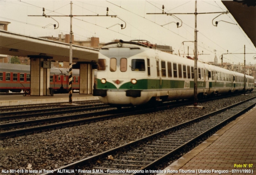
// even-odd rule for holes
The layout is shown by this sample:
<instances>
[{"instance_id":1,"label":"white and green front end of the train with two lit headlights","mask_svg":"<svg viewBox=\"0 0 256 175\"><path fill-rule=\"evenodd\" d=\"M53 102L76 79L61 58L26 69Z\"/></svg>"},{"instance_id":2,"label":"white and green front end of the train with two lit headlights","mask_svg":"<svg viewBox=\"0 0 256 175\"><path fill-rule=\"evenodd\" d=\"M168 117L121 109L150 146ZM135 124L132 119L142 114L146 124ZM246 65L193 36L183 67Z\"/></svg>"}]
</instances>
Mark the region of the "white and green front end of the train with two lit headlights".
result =
<instances>
[{"instance_id":1,"label":"white and green front end of the train with two lit headlights","mask_svg":"<svg viewBox=\"0 0 256 175\"><path fill-rule=\"evenodd\" d=\"M112 106L147 103L148 48L137 42L111 42L100 49L93 95Z\"/></svg>"}]
</instances>

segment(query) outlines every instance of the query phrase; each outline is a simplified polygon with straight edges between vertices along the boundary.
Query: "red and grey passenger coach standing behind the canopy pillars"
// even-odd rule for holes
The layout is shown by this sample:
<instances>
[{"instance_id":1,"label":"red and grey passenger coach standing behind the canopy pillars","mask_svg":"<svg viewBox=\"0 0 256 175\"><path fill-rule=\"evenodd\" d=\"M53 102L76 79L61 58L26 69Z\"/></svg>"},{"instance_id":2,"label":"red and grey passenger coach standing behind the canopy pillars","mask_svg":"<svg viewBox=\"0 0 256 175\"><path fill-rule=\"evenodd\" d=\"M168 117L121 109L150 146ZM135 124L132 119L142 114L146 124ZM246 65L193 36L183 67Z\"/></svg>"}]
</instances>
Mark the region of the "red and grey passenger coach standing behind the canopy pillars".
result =
<instances>
[{"instance_id":1,"label":"red and grey passenger coach standing behind the canopy pillars","mask_svg":"<svg viewBox=\"0 0 256 175\"><path fill-rule=\"evenodd\" d=\"M50 69L50 88L55 93L68 92L67 68ZM72 70L72 89L79 90L79 70ZM21 92L30 88L30 65L0 63L0 92Z\"/></svg>"}]
</instances>

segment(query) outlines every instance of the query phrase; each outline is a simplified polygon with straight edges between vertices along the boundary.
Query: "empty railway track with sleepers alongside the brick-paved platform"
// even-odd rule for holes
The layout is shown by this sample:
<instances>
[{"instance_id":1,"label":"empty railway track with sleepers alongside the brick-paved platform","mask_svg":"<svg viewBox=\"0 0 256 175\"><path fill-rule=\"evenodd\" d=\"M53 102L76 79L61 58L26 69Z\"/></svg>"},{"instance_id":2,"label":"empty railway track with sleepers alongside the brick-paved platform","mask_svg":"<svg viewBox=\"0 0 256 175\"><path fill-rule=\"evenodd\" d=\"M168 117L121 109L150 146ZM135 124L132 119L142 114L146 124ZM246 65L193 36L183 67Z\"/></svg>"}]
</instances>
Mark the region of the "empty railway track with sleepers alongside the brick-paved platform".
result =
<instances>
[{"instance_id":1,"label":"empty railway track with sleepers alongside the brick-paved platform","mask_svg":"<svg viewBox=\"0 0 256 175\"><path fill-rule=\"evenodd\" d=\"M150 174L158 165L179 158L198 141L203 141L256 104L250 98L210 114L170 127L139 140L68 164L53 171L77 174ZM46 175L48 173L45 173Z\"/></svg>"}]
</instances>

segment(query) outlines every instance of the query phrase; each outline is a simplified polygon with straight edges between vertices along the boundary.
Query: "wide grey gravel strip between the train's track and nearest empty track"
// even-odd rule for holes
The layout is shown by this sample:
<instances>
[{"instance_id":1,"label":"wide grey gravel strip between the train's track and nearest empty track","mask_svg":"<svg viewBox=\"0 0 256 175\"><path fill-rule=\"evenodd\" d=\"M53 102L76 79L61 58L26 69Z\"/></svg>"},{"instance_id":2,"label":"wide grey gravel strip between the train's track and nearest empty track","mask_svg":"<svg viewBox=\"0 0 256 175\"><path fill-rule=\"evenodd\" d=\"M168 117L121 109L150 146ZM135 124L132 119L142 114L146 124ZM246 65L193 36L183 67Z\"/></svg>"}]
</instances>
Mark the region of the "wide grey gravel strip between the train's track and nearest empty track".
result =
<instances>
[{"instance_id":1,"label":"wide grey gravel strip between the train's track and nearest empty track","mask_svg":"<svg viewBox=\"0 0 256 175\"><path fill-rule=\"evenodd\" d=\"M1 169L53 170L255 96L205 103L202 109L169 110L99 121L0 141Z\"/></svg>"}]
</instances>

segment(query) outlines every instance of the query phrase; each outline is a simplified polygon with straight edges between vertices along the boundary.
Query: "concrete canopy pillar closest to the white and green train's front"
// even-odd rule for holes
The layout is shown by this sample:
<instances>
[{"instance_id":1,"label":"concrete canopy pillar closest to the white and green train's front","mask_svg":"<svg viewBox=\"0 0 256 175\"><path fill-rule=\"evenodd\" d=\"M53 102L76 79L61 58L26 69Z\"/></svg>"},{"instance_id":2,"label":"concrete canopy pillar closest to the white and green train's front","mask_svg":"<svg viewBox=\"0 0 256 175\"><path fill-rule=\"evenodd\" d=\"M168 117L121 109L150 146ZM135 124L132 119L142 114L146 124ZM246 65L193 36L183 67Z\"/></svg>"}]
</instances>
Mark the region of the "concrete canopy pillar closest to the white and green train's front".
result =
<instances>
[{"instance_id":1,"label":"concrete canopy pillar closest to the white and green train's front","mask_svg":"<svg viewBox=\"0 0 256 175\"><path fill-rule=\"evenodd\" d=\"M94 73L92 69L92 64L80 63L79 76L79 94L92 94L92 87L94 83Z\"/></svg>"}]
</instances>

